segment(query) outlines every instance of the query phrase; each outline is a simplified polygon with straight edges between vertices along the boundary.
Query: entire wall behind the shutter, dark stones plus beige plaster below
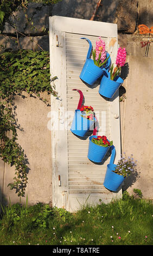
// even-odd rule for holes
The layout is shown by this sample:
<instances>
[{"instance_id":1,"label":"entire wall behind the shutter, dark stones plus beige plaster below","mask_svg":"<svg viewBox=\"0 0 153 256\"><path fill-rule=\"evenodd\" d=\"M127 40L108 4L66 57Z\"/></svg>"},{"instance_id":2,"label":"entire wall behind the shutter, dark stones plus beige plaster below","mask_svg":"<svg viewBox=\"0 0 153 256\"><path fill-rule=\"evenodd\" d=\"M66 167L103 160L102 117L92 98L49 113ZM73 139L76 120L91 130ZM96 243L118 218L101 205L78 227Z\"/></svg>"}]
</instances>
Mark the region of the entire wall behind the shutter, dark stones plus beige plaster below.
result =
<instances>
[{"instance_id":1,"label":"entire wall behind the shutter, dark stones plus beige plaster below","mask_svg":"<svg viewBox=\"0 0 153 256\"><path fill-rule=\"evenodd\" d=\"M5 23L5 29L0 35L0 45L4 45L4 48L9 50L17 50L21 47L49 51L48 17L59 15L90 20L97 2L98 0L62 0L58 4L49 6L31 3L27 9L30 20L27 22L23 10L18 10L14 14L16 28ZM142 190L145 198L153 198L151 186L153 43L150 44L148 58L143 57L145 47L141 47L141 41L148 40L148 35L140 35L137 29L142 23L148 27L153 26L153 2L152 0L145 2L104 0L101 3L103 5L99 7L94 20L117 23L118 43L126 47L127 52L127 64L122 72L125 81L120 88L120 95L126 96L126 99L120 102L122 149L127 154L133 154L138 160L139 177L137 176L131 187L128 186L127 180L124 189L132 193L132 188L136 187ZM13 22L11 17L10 21ZM150 38L153 38L153 35ZM50 109L42 106L43 103L39 100L30 97L24 100L17 97L16 103L18 119L24 127L24 132L18 131L19 143L25 149L31 169L27 186L29 203L37 201L49 203L52 201L51 138L47 130L47 113ZM12 179L11 168L2 161L0 164L3 199L8 199L10 196L12 201L18 202L17 196L14 196L14 192L7 187ZM2 199L2 191L0 199Z\"/></svg>"}]
</instances>

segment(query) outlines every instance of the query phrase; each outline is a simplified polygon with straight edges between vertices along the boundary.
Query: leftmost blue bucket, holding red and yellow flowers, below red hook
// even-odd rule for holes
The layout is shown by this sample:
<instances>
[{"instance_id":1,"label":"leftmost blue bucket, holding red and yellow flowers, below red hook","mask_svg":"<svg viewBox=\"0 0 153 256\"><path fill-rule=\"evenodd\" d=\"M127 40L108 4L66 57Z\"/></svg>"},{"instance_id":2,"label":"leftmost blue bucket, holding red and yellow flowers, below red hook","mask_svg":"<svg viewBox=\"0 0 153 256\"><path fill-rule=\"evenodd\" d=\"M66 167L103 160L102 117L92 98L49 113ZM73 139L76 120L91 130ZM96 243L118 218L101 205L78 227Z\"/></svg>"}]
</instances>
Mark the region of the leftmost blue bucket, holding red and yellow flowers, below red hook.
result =
<instances>
[{"instance_id":1,"label":"leftmost blue bucket, holding red and yellow flowers, below red hook","mask_svg":"<svg viewBox=\"0 0 153 256\"><path fill-rule=\"evenodd\" d=\"M90 130L93 124L94 124L94 121L81 117L80 109L75 109L75 115L74 115L70 130L75 135L84 137L86 135L86 132Z\"/></svg>"}]
</instances>

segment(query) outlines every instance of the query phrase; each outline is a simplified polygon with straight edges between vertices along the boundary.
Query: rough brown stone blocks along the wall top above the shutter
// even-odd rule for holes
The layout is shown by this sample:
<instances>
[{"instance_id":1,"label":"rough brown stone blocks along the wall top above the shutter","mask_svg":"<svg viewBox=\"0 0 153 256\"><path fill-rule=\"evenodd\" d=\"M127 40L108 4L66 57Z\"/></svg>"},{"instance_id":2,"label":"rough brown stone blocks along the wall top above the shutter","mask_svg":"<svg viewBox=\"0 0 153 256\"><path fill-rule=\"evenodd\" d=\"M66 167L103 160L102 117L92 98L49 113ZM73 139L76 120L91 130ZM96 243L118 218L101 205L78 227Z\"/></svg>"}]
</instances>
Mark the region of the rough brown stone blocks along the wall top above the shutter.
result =
<instances>
[{"instance_id":1,"label":"rough brown stone blocks along the wall top above the shutter","mask_svg":"<svg viewBox=\"0 0 153 256\"><path fill-rule=\"evenodd\" d=\"M48 6L31 3L26 11L29 21L25 18L23 10L19 8L14 13L16 28L5 23L4 31L0 35L0 45L12 50L21 47L34 50L43 48L49 51L48 17L59 15L90 20L97 2L97 0L62 0L58 4ZM148 35L140 35L137 26L142 23L148 27L152 26L153 2L104 0L101 3L103 5L99 7L94 20L117 23L119 45L126 47L127 55L143 56L145 47L141 47L141 41L148 40ZM10 21L14 24L14 19L11 17ZM150 38L153 36L151 35ZM148 57L152 57L152 54L153 52L149 50Z\"/></svg>"}]
</instances>

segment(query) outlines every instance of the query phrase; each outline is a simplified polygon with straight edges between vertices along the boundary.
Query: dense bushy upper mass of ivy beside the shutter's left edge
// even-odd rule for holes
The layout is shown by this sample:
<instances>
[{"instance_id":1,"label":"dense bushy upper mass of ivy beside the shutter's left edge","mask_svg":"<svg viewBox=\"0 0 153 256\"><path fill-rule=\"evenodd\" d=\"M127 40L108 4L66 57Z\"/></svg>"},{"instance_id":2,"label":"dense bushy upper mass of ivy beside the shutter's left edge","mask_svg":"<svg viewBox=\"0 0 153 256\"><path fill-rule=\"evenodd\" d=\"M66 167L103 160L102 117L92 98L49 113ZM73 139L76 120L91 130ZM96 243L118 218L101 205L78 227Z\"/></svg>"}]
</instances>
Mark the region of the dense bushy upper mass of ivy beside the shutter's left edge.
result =
<instances>
[{"instance_id":1,"label":"dense bushy upper mass of ivy beside the shutter's left edge","mask_svg":"<svg viewBox=\"0 0 153 256\"><path fill-rule=\"evenodd\" d=\"M0 55L0 70L0 96L3 99L23 90L38 96L47 91L56 96L50 86L49 52L4 52Z\"/></svg>"}]
</instances>

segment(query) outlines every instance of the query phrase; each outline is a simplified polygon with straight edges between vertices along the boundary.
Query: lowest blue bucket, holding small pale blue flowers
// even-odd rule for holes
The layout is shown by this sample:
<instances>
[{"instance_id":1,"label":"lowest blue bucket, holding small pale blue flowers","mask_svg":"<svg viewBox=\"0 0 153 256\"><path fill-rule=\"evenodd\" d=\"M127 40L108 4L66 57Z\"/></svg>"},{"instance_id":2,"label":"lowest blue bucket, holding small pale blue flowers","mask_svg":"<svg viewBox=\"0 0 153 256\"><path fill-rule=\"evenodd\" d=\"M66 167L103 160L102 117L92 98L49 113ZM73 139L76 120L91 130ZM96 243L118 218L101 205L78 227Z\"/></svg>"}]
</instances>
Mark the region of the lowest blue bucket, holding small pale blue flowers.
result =
<instances>
[{"instance_id":1,"label":"lowest blue bucket, holding small pale blue flowers","mask_svg":"<svg viewBox=\"0 0 153 256\"><path fill-rule=\"evenodd\" d=\"M105 174L104 186L111 191L117 191L119 186L124 181L124 176L114 173L113 170L116 168L116 164L107 164L107 170Z\"/></svg>"}]
</instances>

